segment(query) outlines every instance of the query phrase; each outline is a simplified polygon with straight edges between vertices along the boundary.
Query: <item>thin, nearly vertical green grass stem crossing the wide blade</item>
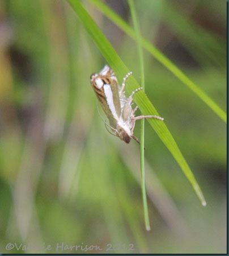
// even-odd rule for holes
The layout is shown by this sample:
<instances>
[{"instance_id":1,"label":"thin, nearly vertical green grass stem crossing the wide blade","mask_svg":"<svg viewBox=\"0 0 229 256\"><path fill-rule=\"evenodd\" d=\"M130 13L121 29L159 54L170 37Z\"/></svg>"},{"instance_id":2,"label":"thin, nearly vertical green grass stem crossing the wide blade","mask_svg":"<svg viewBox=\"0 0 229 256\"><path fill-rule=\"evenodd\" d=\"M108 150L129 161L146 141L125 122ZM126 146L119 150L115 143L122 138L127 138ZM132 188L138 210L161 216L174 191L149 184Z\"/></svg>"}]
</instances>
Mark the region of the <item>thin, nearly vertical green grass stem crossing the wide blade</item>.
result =
<instances>
[{"instance_id":1,"label":"thin, nearly vertical green grass stem crossing the wide blade","mask_svg":"<svg viewBox=\"0 0 229 256\"><path fill-rule=\"evenodd\" d=\"M137 38L138 45L138 59L139 59L139 67L141 71L141 86L143 91L145 91L145 75L144 75L144 61L143 61L143 51L141 45L141 34L140 28L137 20L137 15L134 7L133 0L129 0L130 13L132 15L134 30ZM141 163L141 175L142 175L142 200L143 200L143 209L144 209L144 218L145 218L145 226L146 230L150 231L150 219L149 219L149 210L147 206L147 195L146 195L146 179L145 179L145 120L141 120L141 148L140 148L140 163Z\"/></svg>"}]
</instances>

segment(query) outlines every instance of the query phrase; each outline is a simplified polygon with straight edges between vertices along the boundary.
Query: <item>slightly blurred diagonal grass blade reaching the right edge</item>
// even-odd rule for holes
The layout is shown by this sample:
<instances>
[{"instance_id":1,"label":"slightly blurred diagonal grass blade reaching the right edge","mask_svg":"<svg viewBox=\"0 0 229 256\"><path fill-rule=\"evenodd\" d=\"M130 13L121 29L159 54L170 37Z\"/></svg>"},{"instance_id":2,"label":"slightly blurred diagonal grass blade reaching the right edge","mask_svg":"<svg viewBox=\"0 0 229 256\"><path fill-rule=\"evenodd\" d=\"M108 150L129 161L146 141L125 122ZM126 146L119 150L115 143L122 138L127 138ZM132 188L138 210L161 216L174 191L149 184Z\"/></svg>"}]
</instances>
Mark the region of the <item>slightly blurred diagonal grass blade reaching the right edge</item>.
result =
<instances>
[{"instance_id":1,"label":"slightly blurred diagonal grass blade reaching the right edge","mask_svg":"<svg viewBox=\"0 0 229 256\"><path fill-rule=\"evenodd\" d=\"M105 16L112 20L122 31L131 38L135 38L134 30L113 10L99 0L90 0ZM217 114L224 122L227 122L227 114L213 101L203 90L196 85L188 76L185 75L175 64L162 54L156 47L152 46L145 38L142 38L142 46L146 51L150 52L160 63L162 63L169 71L173 73L181 82L183 82L190 90L192 90L215 114Z\"/></svg>"}]
</instances>

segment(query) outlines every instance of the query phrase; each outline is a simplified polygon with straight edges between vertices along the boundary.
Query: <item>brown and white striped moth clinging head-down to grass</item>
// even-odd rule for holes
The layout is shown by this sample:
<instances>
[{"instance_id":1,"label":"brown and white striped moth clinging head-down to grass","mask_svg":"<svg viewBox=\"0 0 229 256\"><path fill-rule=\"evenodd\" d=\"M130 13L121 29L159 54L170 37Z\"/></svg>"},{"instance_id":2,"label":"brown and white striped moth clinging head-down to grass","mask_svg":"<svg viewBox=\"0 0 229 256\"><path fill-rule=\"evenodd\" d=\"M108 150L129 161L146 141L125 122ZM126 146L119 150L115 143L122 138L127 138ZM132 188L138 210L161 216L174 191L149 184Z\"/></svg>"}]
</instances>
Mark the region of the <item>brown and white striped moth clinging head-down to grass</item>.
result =
<instances>
[{"instance_id":1,"label":"brown and white striped moth clinging head-down to grass","mask_svg":"<svg viewBox=\"0 0 229 256\"><path fill-rule=\"evenodd\" d=\"M164 118L157 115L139 115L135 117L138 106L132 109L133 95L142 90L142 87L134 90L129 97L126 97L124 89L126 79L130 75L132 75L132 72L129 72L124 77L120 87L115 73L108 65L105 65L99 73L91 75L91 85L105 115L107 115L109 125L106 125L111 129L112 133L126 143L129 143L133 138L140 144L139 139L133 133L135 121L145 118L164 120Z\"/></svg>"}]
</instances>

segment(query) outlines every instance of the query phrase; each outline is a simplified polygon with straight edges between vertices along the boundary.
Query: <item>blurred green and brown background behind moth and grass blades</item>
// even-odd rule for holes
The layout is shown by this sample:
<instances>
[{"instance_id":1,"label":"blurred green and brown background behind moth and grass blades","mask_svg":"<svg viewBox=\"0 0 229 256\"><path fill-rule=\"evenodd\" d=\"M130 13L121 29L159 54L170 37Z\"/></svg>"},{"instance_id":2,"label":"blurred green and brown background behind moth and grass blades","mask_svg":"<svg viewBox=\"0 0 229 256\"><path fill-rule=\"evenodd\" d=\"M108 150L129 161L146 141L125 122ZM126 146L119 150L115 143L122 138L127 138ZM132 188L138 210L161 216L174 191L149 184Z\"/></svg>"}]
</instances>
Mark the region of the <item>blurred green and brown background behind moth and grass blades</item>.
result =
<instances>
[{"instance_id":1,"label":"blurred green and brown background behind moth and grass blades","mask_svg":"<svg viewBox=\"0 0 229 256\"><path fill-rule=\"evenodd\" d=\"M136 43L83 3L140 81ZM127 1L106 3L132 26ZM141 34L224 111L226 4L135 1ZM144 58L146 94L207 201L202 207L146 122L151 232L139 145L111 136L97 113L90 75L106 61L69 3L0 0L1 253L226 253L226 124L149 53Z\"/></svg>"}]
</instances>

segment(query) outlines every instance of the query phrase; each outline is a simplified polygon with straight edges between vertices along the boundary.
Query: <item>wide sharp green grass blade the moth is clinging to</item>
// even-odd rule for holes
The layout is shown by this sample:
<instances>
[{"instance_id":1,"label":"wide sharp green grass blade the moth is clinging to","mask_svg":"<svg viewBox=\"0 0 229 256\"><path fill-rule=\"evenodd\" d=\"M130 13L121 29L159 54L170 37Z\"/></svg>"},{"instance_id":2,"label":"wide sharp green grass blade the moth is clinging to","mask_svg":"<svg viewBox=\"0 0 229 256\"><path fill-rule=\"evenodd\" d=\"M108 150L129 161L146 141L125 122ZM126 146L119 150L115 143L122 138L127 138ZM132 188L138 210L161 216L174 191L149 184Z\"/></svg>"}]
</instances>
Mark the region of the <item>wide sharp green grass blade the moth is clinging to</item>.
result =
<instances>
[{"instance_id":1,"label":"wide sharp green grass blade the moth is clinging to","mask_svg":"<svg viewBox=\"0 0 229 256\"><path fill-rule=\"evenodd\" d=\"M126 73L129 72L128 68L117 55L115 49L113 49L107 38L105 38L94 20L81 5L80 1L69 0L69 3L73 7L75 13L78 15L79 19L82 21L83 26L88 31L88 34L90 34L91 38L96 43L96 46L100 49L100 52L103 54L108 64L111 65L112 69L114 69L117 75L124 77ZM130 76L129 79L126 81L126 90L128 91L128 93L130 93L133 92L133 90L136 88L139 88L138 82L134 79L134 76ZM134 102L138 105L143 115L159 115L158 112L156 112L156 109L154 108L152 103L150 102L149 98L143 91L140 90L134 95ZM166 145L168 150L176 159L185 176L192 184L193 189L197 193L198 198L201 200L202 205L206 205L206 201L203 197L201 189L188 164L186 163L184 156L181 154L179 147L177 146L175 140L169 132L165 122L155 119L147 119L147 121L150 123L152 128L158 134L159 138L162 139L163 143Z\"/></svg>"}]
</instances>

